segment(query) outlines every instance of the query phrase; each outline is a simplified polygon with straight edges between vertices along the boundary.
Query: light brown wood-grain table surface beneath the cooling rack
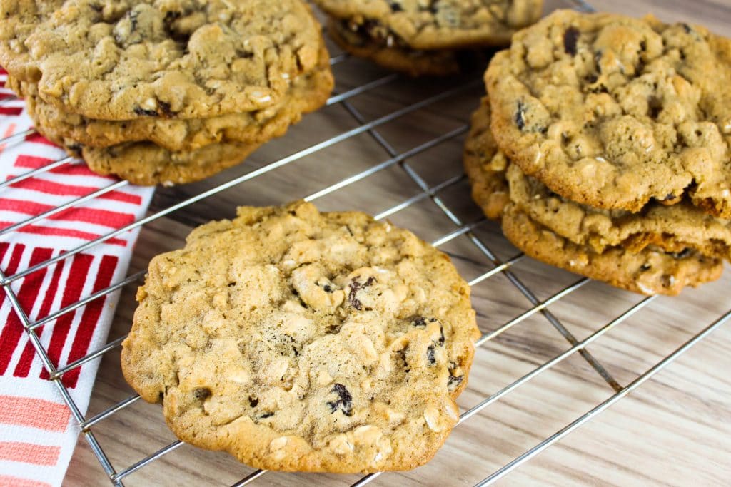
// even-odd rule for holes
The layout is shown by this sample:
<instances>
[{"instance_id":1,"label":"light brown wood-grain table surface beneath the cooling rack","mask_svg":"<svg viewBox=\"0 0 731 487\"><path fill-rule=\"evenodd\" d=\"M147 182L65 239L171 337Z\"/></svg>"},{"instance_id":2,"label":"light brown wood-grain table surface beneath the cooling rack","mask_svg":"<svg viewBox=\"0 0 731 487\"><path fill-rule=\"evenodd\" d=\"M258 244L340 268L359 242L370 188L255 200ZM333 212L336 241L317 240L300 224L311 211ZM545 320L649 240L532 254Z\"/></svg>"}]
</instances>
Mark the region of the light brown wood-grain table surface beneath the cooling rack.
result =
<instances>
[{"instance_id":1,"label":"light brown wood-grain table surface beneath the cooling rack","mask_svg":"<svg viewBox=\"0 0 731 487\"><path fill-rule=\"evenodd\" d=\"M556 4L558 1L549 2L548 8ZM730 0L596 0L593 4L598 9L634 15L654 12L668 21L704 23L716 32L731 35ZM331 50L333 54L337 52ZM338 93L387 74L355 59L337 64L334 72ZM387 85L349 99L350 107L335 104L308 115L286 137L265 145L238 168L202 183L158 191L151 212L357 127L348 108L357 110L366 120L374 120L479 78L479 74L441 81L398 77ZM469 120L482 90L479 81L473 83L447 99L379 126L379 134L402 153L459 129ZM428 185L438 185L461 175L462 143L463 132L459 132L458 136L409 158L407 163ZM360 134L216 193L202 202L190 204L144 227L130 273L145 269L155 254L180 247L193 226L211 218L232 216L239 204L281 204L307 196L388 158L390 154L371 134ZM394 165L322 196L316 203L323 210L357 209L379 213L420 193L420 188L406 175L404 168ZM480 210L469 199L465 180L458 180L438 194L462 222L481 221ZM389 218L428 240L438 239L458 228L428 198L418 200ZM478 223L474 226L474 234L502 261L518 254L493 223ZM467 235L450 240L442 249L450 253L468 280L495 266ZM510 269L541 300L579 280L575 275L528 258L515 262ZM716 283L687 290L678 298L655 299L593 342L587 350L621 386L626 386L730 310L730 284L731 272L727 269ZM110 340L129 331L135 310L135 288L135 284L128 285L121 294ZM583 340L642 299L591 282L561 297L548 309L577 340ZM498 329L533 307L507 276L499 272L473 286L473 304L483 333ZM469 388L459 399L461 409L473 407L569 346L540 312L520 320L478 349ZM721 326L637 391L510 472L499 483L729 485L730 350L731 323ZM614 393L587 361L573 353L458 426L430 464L412 472L382 475L373 485L473 485ZM119 348L115 348L102 358L88 417L132 394L120 372ZM117 470L129 467L175 440L164 424L160 407L141 401L97 423L93 431ZM225 453L183 445L132 473L124 482L128 486L224 486L250 472L249 467ZM357 475L268 472L254 480L253 485L344 486L358 478ZM107 482L87 442L81 439L64 485L105 485Z\"/></svg>"}]
</instances>

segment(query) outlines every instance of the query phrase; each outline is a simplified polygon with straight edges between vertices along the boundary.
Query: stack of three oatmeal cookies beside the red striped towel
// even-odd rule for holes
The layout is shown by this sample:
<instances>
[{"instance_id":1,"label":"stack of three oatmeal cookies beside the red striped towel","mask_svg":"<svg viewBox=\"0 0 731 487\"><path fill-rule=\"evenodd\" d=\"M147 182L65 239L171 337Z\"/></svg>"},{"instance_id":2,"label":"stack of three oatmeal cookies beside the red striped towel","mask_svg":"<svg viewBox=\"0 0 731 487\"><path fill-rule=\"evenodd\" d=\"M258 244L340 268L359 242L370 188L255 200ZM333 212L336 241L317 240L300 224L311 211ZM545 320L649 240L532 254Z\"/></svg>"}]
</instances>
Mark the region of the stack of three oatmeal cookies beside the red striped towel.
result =
<instances>
[{"instance_id":1,"label":"stack of three oatmeal cookies beside the red striped towel","mask_svg":"<svg viewBox=\"0 0 731 487\"><path fill-rule=\"evenodd\" d=\"M238 164L333 88L301 0L24 1L0 15L0 64L36 129L132 183Z\"/></svg>"}]
</instances>

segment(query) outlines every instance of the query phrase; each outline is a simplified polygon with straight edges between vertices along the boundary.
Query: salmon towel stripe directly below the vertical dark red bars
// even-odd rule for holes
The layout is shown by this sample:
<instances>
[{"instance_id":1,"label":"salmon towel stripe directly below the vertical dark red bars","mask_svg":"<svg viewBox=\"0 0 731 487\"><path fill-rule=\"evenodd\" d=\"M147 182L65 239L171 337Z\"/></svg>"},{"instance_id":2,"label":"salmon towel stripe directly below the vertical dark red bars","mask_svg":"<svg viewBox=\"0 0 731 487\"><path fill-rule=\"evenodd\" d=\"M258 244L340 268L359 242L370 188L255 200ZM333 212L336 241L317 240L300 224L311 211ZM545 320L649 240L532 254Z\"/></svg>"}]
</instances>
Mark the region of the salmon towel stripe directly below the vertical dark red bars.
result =
<instances>
[{"instance_id":1,"label":"salmon towel stripe directly below the vertical dark red bars","mask_svg":"<svg viewBox=\"0 0 731 487\"><path fill-rule=\"evenodd\" d=\"M62 432L71 411L64 404L29 397L0 396L0 423Z\"/></svg>"}]
</instances>

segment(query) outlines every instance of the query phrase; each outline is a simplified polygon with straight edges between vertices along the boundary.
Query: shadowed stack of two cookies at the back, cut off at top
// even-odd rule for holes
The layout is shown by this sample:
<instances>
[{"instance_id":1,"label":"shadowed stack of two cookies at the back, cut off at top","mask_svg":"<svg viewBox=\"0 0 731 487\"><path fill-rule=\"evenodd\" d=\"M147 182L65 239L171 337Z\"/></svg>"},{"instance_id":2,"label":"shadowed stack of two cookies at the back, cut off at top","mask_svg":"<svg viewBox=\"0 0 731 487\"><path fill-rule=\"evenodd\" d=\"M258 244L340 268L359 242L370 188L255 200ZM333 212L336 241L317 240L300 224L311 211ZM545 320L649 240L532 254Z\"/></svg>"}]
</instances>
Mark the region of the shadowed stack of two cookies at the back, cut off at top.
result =
<instances>
[{"instance_id":1,"label":"shadowed stack of two cookies at the back, cut off at top","mask_svg":"<svg viewBox=\"0 0 731 487\"><path fill-rule=\"evenodd\" d=\"M315 0L328 33L354 55L389 69L454 74L484 59L478 50L505 46L541 16L543 0Z\"/></svg>"}]
</instances>

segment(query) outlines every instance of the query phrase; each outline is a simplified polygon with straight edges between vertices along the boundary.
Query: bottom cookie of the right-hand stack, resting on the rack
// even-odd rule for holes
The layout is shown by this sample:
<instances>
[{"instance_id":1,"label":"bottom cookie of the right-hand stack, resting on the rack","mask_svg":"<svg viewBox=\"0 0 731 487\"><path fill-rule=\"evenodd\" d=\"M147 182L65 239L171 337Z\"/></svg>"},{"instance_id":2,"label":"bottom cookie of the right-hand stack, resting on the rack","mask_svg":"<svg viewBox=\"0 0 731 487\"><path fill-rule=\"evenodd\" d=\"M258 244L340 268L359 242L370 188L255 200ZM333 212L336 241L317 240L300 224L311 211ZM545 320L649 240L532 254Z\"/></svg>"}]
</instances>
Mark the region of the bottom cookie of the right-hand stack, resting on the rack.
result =
<instances>
[{"instance_id":1,"label":"bottom cookie of the right-hand stack, resting on the rack","mask_svg":"<svg viewBox=\"0 0 731 487\"><path fill-rule=\"evenodd\" d=\"M720 259L696 251L679 256L649 246L637 253L623 247L596 253L542 227L513 204L503 214L502 228L515 247L539 261L649 296L675 296L687 285L718 279L724 269Z\"/></svg>"}]
</instances>

